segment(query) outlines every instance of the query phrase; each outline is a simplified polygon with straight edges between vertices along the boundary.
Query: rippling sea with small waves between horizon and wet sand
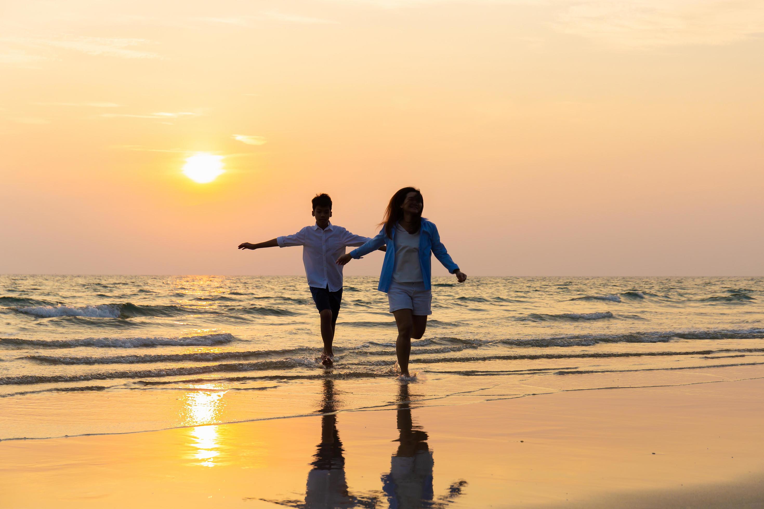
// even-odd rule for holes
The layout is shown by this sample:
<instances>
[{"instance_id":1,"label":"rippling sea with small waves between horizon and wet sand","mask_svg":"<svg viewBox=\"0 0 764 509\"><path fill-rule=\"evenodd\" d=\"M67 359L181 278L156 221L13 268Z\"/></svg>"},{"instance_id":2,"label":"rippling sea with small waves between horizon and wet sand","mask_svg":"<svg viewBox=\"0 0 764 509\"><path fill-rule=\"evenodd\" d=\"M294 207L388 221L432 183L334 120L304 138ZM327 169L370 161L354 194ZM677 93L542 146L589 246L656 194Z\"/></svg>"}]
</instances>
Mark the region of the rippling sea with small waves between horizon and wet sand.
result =
<instances>
[{"instance_id":1,"label":"rippling sea with small waves between horizon and wet sand","mask_svg":"<svg viewBox=\"0 0 764 509\"><path fill-rule=\"evenodd\" d=\"M764 278L432 281L399 378L377 278L347 277L335 365L303 277L0 276L0 440L755 378ZM407 396L408 397L408 396ZM322 410L323 409L323 410Z\"/></svg>"}]
</instances>

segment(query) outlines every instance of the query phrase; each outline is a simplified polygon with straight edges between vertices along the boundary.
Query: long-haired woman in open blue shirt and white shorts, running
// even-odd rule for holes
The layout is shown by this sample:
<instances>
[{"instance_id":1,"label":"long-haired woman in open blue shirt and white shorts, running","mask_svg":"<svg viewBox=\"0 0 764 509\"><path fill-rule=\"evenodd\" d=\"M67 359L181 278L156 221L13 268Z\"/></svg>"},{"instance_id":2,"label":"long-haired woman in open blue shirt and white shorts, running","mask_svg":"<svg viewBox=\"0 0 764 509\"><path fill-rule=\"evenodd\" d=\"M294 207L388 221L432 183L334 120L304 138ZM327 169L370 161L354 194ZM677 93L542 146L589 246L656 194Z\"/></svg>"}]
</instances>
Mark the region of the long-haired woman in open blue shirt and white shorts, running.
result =
<instances>
[{"instance_id":1,"label":"long-haired woman in open blue shirt and white shorts, running","mask_svg":"<svg viewBox=\"0 0 764 509\"><path fill-rule=\"evenodd\" d=\"M345 265L352 258L361 258L381 246L387 246L380 275L380 292L387 292L390 313L395 316L398 339L395 353L403 376L409 377L411 338L418 340L425 333L427 316L432 314L432 290L430 289L430 252L456 275L458 282L465 282L467 275L448 256L440 241L435 224L422 217L424 198L419 189L400 189L384 213L380 223L382 230L363 246L337 259Z\"/></svg>"}]
</instances>

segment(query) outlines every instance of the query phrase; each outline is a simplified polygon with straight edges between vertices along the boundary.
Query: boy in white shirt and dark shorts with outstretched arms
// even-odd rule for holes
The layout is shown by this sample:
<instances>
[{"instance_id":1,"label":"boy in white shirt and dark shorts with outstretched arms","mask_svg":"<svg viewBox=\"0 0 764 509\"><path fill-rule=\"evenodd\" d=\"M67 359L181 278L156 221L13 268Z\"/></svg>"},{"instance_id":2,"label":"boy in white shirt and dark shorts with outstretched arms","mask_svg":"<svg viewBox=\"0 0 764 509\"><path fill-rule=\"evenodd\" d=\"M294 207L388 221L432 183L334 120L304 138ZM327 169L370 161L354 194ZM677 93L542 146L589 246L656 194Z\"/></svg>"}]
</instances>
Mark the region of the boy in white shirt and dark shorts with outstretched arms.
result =
<instances>
[{"instance_id":1,"label":"boy in white shirt and dark shorts with outstretched arms","mask_svg":"<svg viewBox=\"0 0 764 509\"><path fill-rule=\"evenodd\" d=\"M256 250L262 247L303 246L305 275L321 317L321 337L324 340L321 363L331 366L334 357L332 341L342 302L342 266L338 266L335 259L345 254L346 246L361 246L369 239L351 234L345 228L329 222L329 217L332 217L332 198L329 195L316 195L312 205L311 215L316 217L316 224L286 237L276 237L257 244L243 242L238 248Z\"/></svg>"}]
</instances>

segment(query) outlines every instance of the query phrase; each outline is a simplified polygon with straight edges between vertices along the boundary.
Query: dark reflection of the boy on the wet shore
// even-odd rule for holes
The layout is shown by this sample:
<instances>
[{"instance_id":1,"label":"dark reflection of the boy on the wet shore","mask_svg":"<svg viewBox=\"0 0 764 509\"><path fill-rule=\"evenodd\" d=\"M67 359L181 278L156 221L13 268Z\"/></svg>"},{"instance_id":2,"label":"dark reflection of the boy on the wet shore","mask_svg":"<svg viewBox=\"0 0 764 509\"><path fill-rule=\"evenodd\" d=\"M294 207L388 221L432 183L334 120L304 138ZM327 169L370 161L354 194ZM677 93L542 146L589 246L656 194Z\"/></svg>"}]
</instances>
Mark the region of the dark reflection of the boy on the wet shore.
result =
<instances>
[{"instance_id":1,"label":"dark reflection of the boy on the wet shore","mask_svg":"<svg viewBox=\"0 0 764 509\"><path fill-rule=\"evenodd\" d=\"M353 498L348 495L345 481L345 458L342 456L342 441L337 431L334 382L324 380L324 401L321 409L321 443L316 448L312 470L308 473L305 505L311 509L354 507Z\"/></svg>"}]
</instances>

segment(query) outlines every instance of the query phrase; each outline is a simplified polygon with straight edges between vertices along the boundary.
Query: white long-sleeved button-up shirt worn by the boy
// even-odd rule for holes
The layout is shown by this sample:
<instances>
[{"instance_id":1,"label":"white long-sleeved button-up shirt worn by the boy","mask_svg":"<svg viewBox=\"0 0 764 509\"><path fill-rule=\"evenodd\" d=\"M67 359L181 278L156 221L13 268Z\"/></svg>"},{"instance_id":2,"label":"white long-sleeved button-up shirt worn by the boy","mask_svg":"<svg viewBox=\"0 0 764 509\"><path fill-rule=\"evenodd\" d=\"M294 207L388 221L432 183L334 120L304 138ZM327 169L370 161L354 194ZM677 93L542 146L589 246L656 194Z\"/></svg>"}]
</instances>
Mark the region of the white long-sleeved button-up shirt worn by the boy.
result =
<instances>
[{"instance_id":1,"label":"white long-sleeved button-up shirt worn by the boy","mask_svg":"<svg viewBox=\"0 0 764 509\"><path fill-rule=\"evenodd\" d=\"M323 230L318 224L306 226L293 235L276 237L279 247L303 246L303 263L308 285L329 287L329 292L342 289L342 266L336 259L347 246L362 246L369 237L351 234L341 226L329 223Z\"/></svg>"}]
</instances>

